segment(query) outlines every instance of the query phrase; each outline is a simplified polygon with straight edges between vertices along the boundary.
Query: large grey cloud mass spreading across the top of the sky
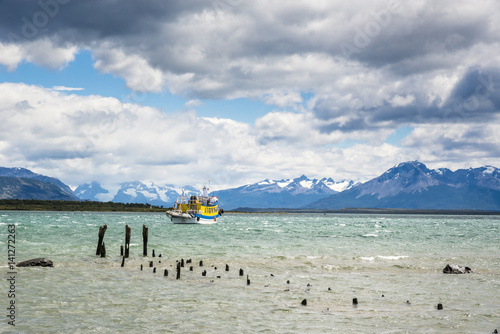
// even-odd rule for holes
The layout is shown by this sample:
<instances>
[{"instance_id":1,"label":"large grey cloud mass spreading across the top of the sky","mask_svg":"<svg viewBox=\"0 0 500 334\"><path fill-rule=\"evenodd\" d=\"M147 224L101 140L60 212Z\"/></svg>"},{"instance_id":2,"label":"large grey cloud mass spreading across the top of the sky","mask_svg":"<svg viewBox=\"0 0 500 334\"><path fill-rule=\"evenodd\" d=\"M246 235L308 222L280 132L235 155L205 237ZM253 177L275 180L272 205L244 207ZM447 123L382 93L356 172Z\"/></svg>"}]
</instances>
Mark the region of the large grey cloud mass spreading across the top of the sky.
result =
<instances>
[{"instance_id":1,"label":"large grey cloud mass spreading across the top of the sky","mask_svg":"<svg viewBox=\"0 0 500 334\"><path fill-rule=\"evenodd\" d=\"M163 79L175 94L195 99L311 91L322 132L355 131L496 114L498 65L473 66L483 66L484 54L498 54L499 7L492 1L6 0L0 41L49 38L91 49L99 70L139 91L159 91ZM126 62L131 56L137 58ZM139 58L146 65L132 71ZM158 73L138 79L148 66ZM472 69L463 75L460 67ZM463 77L446 95L429 87L439 75ZM156 84L142 83L151 77ZM346 87L343 78L356 82ZM349 103L339 102L350 95Z\"/></svg>"}]
</instances>

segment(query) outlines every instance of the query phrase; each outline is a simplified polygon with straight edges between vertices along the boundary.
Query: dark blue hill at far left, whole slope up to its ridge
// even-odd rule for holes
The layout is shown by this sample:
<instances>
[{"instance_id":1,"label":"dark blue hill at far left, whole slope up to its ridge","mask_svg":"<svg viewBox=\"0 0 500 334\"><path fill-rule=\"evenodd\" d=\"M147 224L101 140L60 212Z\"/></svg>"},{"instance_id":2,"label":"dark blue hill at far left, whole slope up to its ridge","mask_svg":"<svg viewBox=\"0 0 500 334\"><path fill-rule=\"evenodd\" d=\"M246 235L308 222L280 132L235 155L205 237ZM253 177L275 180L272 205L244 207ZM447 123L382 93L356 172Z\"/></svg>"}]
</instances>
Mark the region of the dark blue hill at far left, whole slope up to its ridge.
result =
<instances>
[{"instance_id":1,"label":"dark blue hill at far left, whole slope up to its ridge","mask_svg":"<svg viewBox=\"0 0 500 334\"><path fill-rule=\"evenodd\" d=\"M46 199L46 200L72 200L72 201L77 201L79 198L75 196L73 191L71 190L70 187L68 187L66 184L61 182L59 179L56 179L55 177L50 177L50 176L45 176L42 174L37 174L33 173L32 171L25 169L25 168L6 168L6 167L0 167L0 177L4 178L13 178L13 179L28 179L28 180L36 180L40 181L43 183L47 183L50 185L53 185L57 188L59 188L59 191L56 191L55 188L48 186L48 185L42 185L40 183L36 182L29 182L29 181L22 181L20 182L19 180L9 180L4 179L3 180L3 186L0 187L0 192L4 194L4 196L7 196L7 194L11 194L10 196L13 196L12 194L23 194L22 196L28 196L28 194L31 194L33 197L19 197L19 199ZM36 187L38 188L30 188L27 189L26 187L28 184L32 184L35 187L35 184L37 185ZM10 187L10 188L9 188ZM17 190L16 190L17 189ZM24 189L21 191L21 189ZM40 193L36 192L36 189ZM21 192L19 192L21 191ZM47 191L47 193L44 193L44 191ZM55 196L55 198L50 198L50 196ZM16 198L16 197L1 197L3 199L11 199L11 198Z\"/></svg>"}]
</instances>

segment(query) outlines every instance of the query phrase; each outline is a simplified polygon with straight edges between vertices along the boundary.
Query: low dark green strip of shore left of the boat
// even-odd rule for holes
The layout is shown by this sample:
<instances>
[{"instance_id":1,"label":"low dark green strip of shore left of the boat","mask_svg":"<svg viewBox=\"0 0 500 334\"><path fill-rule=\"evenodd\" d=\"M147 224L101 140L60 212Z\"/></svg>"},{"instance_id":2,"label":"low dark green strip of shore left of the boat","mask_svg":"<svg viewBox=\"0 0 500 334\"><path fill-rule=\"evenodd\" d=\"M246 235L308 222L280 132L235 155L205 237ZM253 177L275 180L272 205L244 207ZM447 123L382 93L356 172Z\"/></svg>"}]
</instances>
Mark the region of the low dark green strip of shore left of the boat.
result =
<instances>
[{"instance_id":1,"label":"low dark green strip of shore left of the boat","mask_svg":"<svg viewBox=\"0 0 500 334\"><path fill-rule=\"evenodd\" d=\"M19 211L110 211L165 212L168 209L149 204L91 201L46 201L36 199L2 199L0 210Z\"/></svg>"}]
</instances>

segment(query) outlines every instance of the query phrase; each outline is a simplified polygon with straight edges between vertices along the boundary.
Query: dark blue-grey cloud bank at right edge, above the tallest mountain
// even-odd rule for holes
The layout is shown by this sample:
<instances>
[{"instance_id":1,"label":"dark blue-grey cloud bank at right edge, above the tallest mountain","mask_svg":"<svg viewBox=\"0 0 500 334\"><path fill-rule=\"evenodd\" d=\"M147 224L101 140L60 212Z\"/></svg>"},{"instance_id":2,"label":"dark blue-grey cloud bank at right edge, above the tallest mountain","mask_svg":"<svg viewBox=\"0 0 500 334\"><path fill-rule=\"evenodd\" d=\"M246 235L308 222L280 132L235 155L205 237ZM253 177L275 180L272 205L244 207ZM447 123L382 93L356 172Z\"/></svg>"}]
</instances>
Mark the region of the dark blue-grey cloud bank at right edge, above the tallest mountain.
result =
<instances>
[{"instance_id":1,"label":"dark blue-grey cloud bank at right edge, above the tallest mountain","mask_svg":"<svg viewBox=\"0 0 500 334\"><path fill-rule=\"evenodd\" d=\"M418 92L414 96L414 101L406 106L385 102L377 107L359 109L338 108L335 99L322 98L316 102L313 113L320 120L332 120L322 126L323 132L392 128L398 124L487 122L500 114L500 70L469 69L446 101L429 101ZM341 120L335 120L341 116Z\"/></svg>"}]
</instances>

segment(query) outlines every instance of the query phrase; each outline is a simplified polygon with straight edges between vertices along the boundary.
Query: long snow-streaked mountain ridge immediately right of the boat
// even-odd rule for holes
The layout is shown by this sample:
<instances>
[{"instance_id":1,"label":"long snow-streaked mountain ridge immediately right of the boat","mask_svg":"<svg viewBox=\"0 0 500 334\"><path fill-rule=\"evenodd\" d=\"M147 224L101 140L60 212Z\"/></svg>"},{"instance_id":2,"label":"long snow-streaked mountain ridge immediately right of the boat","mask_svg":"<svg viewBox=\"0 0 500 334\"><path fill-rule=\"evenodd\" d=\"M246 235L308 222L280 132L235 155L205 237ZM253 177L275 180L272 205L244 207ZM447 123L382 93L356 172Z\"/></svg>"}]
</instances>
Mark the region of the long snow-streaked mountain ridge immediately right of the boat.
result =
<instances>
[{"instance_id":1,"label":"long snow-streaked mountain ridge immediately right of the boat","mask_svg":"<svg viewBox=\"0 0 500 334\"><path fill-rule=\"evenodd\" d=\"M349 189L353 181L335 182L331 178L309 179L305 175L296 179L271 180L238 188L215 191L226 210L250 208L297 208Z\"/></svg>"}]
</instances>

